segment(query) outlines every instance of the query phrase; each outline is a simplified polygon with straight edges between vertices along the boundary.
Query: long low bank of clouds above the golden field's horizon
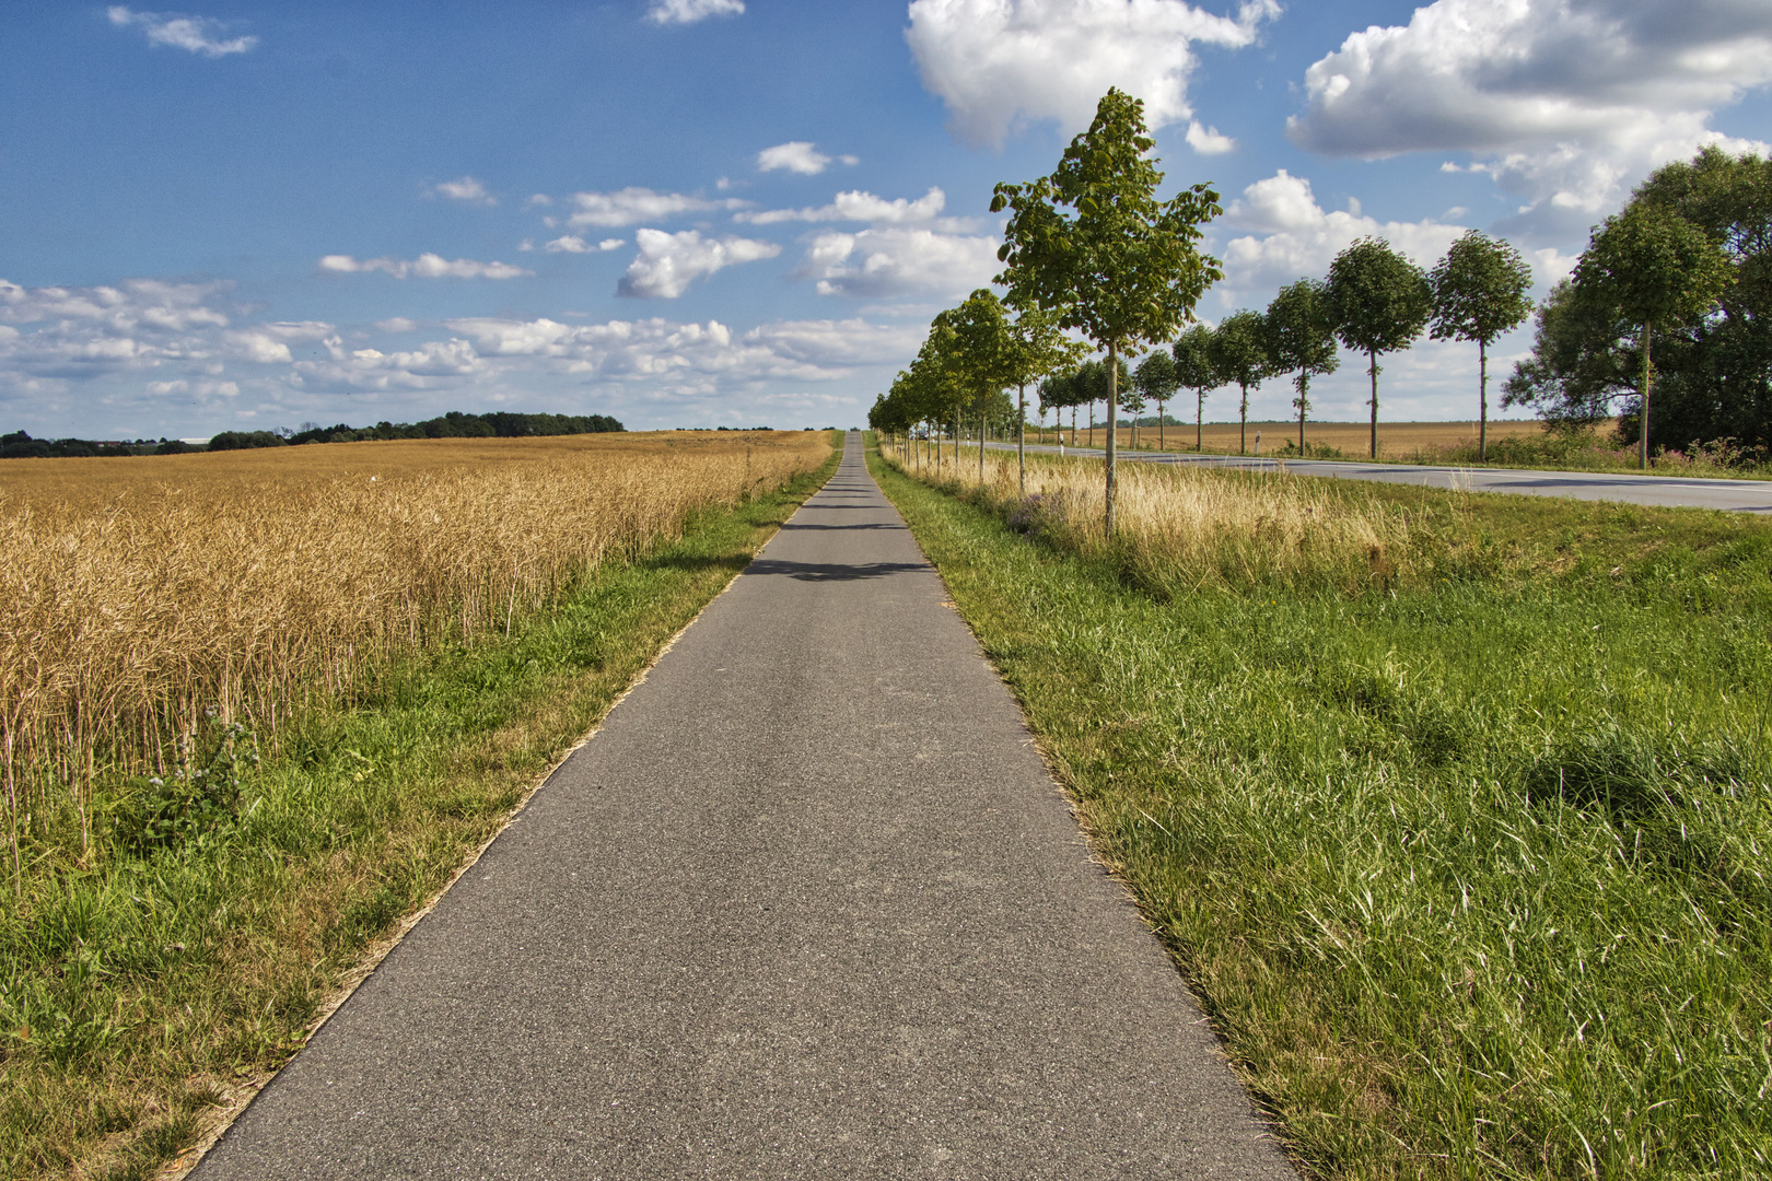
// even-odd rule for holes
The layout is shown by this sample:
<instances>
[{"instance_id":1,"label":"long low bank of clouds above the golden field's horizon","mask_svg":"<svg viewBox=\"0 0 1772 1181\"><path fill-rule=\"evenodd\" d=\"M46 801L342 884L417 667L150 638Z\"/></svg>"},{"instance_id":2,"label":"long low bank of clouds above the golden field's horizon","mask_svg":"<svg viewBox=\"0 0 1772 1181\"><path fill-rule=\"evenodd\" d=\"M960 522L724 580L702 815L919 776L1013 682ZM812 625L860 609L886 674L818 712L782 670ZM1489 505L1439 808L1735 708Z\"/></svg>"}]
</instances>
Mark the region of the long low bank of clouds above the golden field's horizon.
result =
<instances>
[{"instance_id":1,"label":"long low bank of clouds above the golden field's horizon","mask_svg":"<svg viewBox=\"0 0 1772 1181\"><path fill-rule=\"evenodd\" d=\"M842 421L859 413L858 395L819 382L856 374L872 382L875 370L905 365L925 331L921 322L863 317L748 329L719 320L464 319L447 322L443 338L374 349L317 320L237 322L227 292L227 283L27 289L0 280L0 405L14 423L51 436L202 434L250 414L422 418L441 391L457 405L516 398L523 409L585 405L588 391L599 409L629 421L670 414L661 425L771 421L796 409L831 421L815 405ZM374 328L424 331L406 317Z\"/></svg>"}]
</instances>

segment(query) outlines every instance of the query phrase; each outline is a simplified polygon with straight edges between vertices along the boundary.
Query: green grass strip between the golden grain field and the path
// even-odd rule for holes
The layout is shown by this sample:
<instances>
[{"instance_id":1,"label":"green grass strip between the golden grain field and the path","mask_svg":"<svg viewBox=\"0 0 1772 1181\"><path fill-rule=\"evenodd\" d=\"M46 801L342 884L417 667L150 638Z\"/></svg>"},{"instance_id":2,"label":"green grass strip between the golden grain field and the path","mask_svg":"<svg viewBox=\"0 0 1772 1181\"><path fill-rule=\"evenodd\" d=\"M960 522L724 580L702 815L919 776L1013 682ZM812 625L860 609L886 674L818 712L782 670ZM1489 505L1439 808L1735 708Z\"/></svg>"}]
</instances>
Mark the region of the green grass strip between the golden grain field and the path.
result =
<instances>
[{"instance_id":1,"label":"green grass strip between the golden grain field and the path","mask_svg":"<svg viewBox=\"0 0 1772 1181\"><path fill-rule=\"evenodd\" d=\"M213 728L191 784L117 791L92 868L0 907L0 1176L145 1177L303 1043L365 951L835 469L707 512L509 639L434 652L275 745ZM195 781L197 776L193 774Z\"/></svg>"}]
</instances>

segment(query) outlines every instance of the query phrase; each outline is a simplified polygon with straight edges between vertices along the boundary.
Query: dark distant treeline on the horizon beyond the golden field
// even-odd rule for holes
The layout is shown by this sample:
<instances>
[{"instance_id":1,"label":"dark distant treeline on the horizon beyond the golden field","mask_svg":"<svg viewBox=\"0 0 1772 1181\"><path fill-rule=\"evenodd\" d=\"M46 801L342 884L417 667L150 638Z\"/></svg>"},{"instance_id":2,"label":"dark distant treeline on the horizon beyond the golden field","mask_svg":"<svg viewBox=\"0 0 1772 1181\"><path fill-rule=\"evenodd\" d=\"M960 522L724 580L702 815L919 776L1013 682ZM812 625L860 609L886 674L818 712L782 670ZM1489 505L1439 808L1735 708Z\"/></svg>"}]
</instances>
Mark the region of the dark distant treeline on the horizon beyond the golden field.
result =
<instances>
[{"instance_id":1,"label":"dark distant treeline on the horizon beyond the golden field","mask_svg":"<svg viewBox=\"0 0 1772 1181\"><path fill-rule=\"evenodd\" d=\"M223 430L209 444L179 439L135 439L133 443L96 443L92 439L32 439L23 430L0 436L0 459L69 459L87 455L183 455L186 452L243 452L259 446L298 443L360 443L363 439L525 439L532 436L602 434L626 430L608 414L462 414L450 411L420 423L379 421L374 427L315 427L301 430Z\"/></svg>"}]
</instances>

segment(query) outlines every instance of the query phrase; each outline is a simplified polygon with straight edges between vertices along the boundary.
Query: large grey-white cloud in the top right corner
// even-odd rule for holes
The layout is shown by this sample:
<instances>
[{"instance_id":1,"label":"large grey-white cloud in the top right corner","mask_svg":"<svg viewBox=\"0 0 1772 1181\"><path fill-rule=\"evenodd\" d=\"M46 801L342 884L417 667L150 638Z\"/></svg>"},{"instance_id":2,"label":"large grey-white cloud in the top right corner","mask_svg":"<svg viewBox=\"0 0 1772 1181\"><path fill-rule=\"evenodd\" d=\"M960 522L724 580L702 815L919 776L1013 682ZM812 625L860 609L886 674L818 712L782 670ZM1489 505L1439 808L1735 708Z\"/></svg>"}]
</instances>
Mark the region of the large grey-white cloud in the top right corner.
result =
<instances>
[{"instance_id":1,"label":"large grey-white cloud in the top right corner","mask_svg":"<svg viewBox=\"0 0 1772 1181\"><path fill-rule=\"evenodd\" d=\"M1527 200L1522 227L1572 230L1703 143L1767 151L1708 122L1768 81L1763 4L1437 0L1315 62L1286 133L1333 156L1473 152Z\"/></svg>"}]
</instances>

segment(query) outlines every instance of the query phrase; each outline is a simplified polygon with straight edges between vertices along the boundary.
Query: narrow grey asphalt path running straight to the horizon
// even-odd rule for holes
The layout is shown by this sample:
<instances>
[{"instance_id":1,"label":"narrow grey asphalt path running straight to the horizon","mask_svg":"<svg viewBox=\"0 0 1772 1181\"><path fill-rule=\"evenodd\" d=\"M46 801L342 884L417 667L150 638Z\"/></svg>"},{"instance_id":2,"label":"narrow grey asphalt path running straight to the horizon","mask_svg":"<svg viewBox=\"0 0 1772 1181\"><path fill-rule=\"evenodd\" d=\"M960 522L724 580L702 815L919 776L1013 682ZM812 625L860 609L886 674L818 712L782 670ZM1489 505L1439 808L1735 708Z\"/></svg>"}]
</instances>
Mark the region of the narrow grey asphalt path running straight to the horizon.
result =
<instances>
[{"instance_id":1,"label":"narrow grey asphalt path running straight to the horizon","mask_svg":"<svg viewBox=\"0 0 1772 1181\"><path fill-rule=\"evenodd\" d=\"M193 1174L1292 1177L851 436Z\"/></svg>"}]
</instances>

